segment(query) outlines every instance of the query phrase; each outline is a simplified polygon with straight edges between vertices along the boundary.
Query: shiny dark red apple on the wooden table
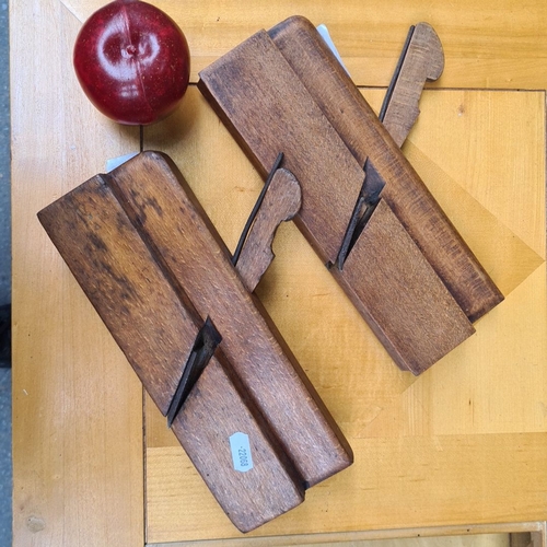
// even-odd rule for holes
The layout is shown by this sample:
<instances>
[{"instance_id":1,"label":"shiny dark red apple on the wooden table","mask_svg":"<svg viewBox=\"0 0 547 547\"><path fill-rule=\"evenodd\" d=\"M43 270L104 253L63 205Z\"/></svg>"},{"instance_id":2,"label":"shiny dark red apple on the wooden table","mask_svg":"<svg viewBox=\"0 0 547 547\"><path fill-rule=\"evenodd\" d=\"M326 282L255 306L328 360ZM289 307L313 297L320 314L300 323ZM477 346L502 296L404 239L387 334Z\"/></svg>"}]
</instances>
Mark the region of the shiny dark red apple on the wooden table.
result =
<instances>
[{"instance_id":1,"label":"shiny dark red apple on the wooden table","mask_svg":"<svg viewBox=\"0 0 547 547\"><path fill-rule=\"evenodd\" d=\"M74 45L74 69L90 101L128 125L153 124L176 107L188 86L186 38L163 11L115 0L93 13Z\"/></svg>"}]
</instances>

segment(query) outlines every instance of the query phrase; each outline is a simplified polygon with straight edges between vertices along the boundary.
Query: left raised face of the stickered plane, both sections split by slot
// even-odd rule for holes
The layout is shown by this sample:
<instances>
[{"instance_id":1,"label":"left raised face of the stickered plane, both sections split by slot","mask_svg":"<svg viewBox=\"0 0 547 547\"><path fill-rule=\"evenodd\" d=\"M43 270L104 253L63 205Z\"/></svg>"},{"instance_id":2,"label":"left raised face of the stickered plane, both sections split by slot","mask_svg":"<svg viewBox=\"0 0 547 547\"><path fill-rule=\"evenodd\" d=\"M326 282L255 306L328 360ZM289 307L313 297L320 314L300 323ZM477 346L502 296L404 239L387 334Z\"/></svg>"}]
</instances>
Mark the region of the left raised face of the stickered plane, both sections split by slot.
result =
<instances>
[{"instance_id":1,"label":"left raised face of the stickered plane, both sections split by slot","mask_svg":"<svg viewBox=\"0 0 547 547\"><path fill-rule=\"evenodd\" d=\"M38 216L165 415L202 321L186 295L181 295L179 288L167 280L107 179L93 177ZM304 500L304 479L271 434L221 349L217 349L172 429L242 532ZM229 438L240 431L249 435L252 445L254 467L246 473L234 469L230 452Z\"/></svg>"}]
</instances>

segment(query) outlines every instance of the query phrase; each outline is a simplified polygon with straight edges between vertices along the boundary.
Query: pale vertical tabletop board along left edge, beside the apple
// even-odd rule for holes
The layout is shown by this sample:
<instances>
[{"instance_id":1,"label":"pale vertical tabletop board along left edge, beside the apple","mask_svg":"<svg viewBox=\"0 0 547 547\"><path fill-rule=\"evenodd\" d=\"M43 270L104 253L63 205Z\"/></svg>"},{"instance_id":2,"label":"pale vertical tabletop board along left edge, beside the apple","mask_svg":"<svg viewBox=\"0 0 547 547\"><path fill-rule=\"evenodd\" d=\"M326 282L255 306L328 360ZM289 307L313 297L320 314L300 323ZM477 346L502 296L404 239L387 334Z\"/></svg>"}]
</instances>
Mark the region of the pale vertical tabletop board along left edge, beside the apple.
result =
<instances>
[{"instance_id":1,"label":"pale vertical tabletop board along left edge, beside the apple","mask_svg":"<svg viewBox=\"0 0 547 547\"><path fill-rule=\"evenodd\" d=\"M36 218L138 130L83 97L57 0L14 2L10 23L13 545L142 545L142 388Z\"/></svg>"}]
</instances>

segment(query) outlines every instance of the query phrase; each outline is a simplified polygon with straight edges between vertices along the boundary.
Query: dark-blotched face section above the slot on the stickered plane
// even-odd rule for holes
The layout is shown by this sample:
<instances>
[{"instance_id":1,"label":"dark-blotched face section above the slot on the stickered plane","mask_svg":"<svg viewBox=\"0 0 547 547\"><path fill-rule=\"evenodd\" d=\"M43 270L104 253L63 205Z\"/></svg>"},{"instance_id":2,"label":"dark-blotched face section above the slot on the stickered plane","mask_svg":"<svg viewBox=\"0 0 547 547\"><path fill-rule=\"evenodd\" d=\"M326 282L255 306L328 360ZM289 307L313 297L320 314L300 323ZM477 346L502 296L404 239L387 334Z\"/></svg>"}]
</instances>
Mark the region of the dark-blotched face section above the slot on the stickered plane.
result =
<instances>
[{"instance_id":1,"label":"dark-blotched face section above the slot on the stickered plane","mask_svg":"<svg viewBox=\"0 0 547 547\"><path fill-rule=\"evenodd\" d=\"M38 218L165 415L199 329L191 310L166 282L101 175Z\"/></svg>"}]
</instances>

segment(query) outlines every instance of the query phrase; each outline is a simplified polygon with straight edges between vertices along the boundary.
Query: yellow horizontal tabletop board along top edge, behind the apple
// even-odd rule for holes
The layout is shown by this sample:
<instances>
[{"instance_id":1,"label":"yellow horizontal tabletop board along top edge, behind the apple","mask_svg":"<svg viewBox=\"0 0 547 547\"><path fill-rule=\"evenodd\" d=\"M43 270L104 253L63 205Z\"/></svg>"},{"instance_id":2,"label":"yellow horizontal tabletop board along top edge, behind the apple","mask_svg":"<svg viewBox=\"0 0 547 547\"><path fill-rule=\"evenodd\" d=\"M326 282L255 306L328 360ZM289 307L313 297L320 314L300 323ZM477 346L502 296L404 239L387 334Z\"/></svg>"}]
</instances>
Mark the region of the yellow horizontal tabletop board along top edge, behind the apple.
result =
<instances>
[{"instance_id":1,"label":"yellow horizontal tabletop board along top edge, behind the apple","mask_svg":"<svg viewBox=\"0 0 547 547\"><path fill-rule=\"evenodd\" d=\"M62 0L84 21L105 2ZM433 25L447 58L441 88L546 89L540 67L547 57L547 4L514 0L430 2L370 0L155 0L183 28L193 56L191 80L199 70L260 28L290 15L325 23L359 85L387 85L408 27Z\"/></svg>"}]
</instances>

